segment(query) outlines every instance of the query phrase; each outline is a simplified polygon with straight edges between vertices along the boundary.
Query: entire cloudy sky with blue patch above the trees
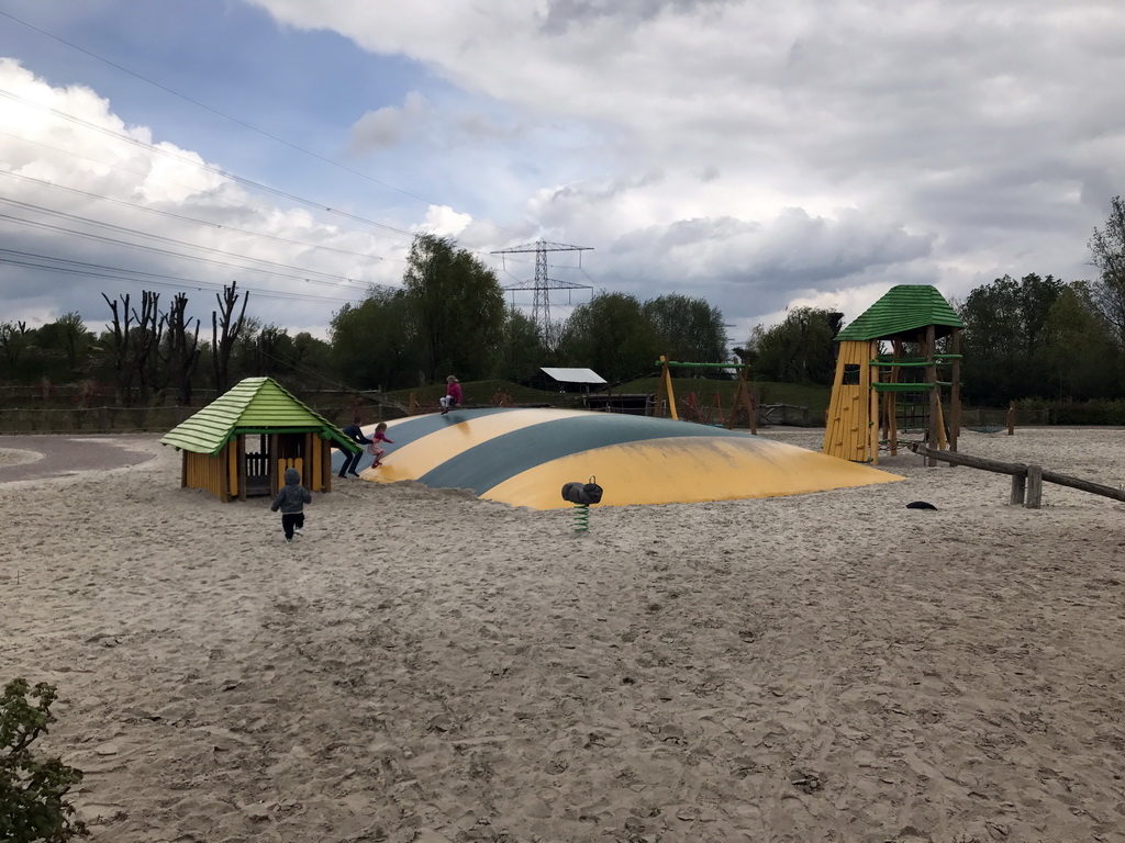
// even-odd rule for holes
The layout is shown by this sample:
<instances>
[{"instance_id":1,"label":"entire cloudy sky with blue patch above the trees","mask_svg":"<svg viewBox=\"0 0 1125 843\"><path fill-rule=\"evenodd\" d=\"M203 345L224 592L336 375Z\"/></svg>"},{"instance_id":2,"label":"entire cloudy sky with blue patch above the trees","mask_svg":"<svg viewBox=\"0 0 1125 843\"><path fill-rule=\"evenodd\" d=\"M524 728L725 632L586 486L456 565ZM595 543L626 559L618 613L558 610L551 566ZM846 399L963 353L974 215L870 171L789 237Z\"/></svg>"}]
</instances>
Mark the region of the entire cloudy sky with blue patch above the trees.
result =
<instances>
[{"instance_id":1,"label":"entire cloudy sky with blue patch above the trees","mask_svg":"<svg viewBox=\"0 0 1125 843\"><path fill-rule=\"evenodd\" d=\"M591 247L550 278L704 297L738 341L1090 278L1122 44L1120 0L0 0L0 321L153 290L209 323L237 281L323 335L417 232L504 284L533 255L493 251Z\"/></svg>"}]
</instances>

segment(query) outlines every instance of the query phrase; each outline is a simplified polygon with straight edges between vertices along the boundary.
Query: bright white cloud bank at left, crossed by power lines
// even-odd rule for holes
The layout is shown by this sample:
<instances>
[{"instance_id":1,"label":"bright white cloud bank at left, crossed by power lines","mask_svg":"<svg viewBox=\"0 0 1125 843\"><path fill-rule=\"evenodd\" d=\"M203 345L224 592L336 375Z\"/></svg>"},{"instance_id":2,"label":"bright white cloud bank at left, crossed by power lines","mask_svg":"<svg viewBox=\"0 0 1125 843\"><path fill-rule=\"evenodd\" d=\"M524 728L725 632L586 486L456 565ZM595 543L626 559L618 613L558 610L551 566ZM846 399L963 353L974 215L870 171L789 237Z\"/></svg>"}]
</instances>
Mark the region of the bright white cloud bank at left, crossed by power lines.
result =
<instances>
[{"instance_id":1,"label":"bright white cloud bank at left, crossed by power lines","mask_svg":"<svg viewBox=\"0 0 1125 843\"><path fill-rule=\"evenodd\" d=\"M262 321L323 330L344 300L400 277L368 233L270 205L198 154L153 145L89 89L52 88L9 60L0 89L4 320L78 311L97 329L104 292L136 302L147 289L163 301L187 292L209 321L216 290L236 280Z\"/></svg>"}]
</instances>

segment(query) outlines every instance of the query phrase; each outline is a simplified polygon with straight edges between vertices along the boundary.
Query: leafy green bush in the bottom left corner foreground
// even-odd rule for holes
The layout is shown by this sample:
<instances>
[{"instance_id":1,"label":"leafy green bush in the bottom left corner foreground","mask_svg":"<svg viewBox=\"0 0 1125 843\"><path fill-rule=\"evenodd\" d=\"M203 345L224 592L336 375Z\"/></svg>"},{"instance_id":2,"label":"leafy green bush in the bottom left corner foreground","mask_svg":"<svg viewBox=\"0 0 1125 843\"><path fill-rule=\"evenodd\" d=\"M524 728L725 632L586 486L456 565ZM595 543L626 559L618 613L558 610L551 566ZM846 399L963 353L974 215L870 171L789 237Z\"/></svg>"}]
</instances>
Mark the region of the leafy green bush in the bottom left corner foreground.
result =
<instances>
[{"instance_id":1,"label":"leafy green bush in the bottom left corner foreground","mask_svg":"<svg viewBox=\"0 0 1125 843\"><path fill-rule=\"evenodd\" d=\"M82 771L32 754L32 744L55 722L51 704L57 696L54 686L29 689L26 679L11 680L0 696L0 840L58 843L89 833L64 799Z\"/></svg>"}]
</instances>

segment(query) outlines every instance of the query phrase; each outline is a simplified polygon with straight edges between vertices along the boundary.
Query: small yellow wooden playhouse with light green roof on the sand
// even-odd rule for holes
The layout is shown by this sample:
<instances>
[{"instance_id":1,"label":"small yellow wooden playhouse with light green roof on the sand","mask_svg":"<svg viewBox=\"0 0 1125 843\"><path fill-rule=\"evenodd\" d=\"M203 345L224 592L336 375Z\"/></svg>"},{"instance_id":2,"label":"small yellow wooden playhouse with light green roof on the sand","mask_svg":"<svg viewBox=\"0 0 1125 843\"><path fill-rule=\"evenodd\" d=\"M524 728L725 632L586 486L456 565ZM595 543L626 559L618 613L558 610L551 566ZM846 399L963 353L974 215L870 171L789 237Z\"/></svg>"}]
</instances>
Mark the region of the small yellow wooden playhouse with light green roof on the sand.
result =
<instances>
[{"instance_id":1,"label":"small yellow wooden playhouse with light green roof on the sand","mask_svg":"<svg viewBox=\"0 0 1125 843\"><path fill-rule=\"evenodd\" d=\"M332 448L360 450L272 378L240 381L160 443L183 453L181 488L224 502L277 495L290 468L309 491L332 491Z\"/></svg>"}]
</instances>

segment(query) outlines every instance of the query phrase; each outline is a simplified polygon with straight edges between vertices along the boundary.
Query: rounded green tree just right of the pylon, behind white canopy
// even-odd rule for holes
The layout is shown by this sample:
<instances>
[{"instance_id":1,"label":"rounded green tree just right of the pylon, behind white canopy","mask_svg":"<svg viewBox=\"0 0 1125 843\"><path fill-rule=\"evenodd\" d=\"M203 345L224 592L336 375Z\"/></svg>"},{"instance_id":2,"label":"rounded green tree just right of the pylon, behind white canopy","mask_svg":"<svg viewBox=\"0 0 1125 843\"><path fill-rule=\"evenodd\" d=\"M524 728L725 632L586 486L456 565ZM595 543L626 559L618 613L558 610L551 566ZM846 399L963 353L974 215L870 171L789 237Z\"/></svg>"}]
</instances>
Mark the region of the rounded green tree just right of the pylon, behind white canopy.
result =
<instances>
[{"instance_id":1,"label":"rounded green tree just right of the pylon, behind white canopy","mask_svg":"<svg viewBox=\"0 0 1125 843\"><path fill-rule=\"evenodd\" d=\"M608 381L648 374L664 353L662 338L641 303L620 292L595 296L567 318L559 339L565 365L593 369Z\"/></svg>"}]
</instances>

